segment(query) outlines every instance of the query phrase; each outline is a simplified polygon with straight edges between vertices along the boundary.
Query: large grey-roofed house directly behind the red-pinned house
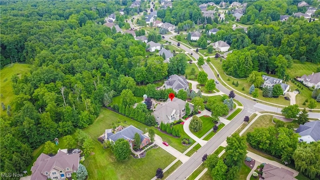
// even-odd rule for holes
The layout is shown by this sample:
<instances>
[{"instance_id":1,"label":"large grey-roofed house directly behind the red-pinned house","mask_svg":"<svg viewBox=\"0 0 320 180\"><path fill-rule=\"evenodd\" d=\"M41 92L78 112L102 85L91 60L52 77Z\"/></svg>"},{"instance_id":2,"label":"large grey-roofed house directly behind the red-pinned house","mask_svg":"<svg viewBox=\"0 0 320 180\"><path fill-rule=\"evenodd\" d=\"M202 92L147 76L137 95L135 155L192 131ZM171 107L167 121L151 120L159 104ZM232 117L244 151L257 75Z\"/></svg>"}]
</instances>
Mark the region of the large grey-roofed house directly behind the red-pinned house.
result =
<instances>
[{"instance_id":1,"label":"large grey-roofed house directly behind the red-pinned house","mask_svg":"<svg viewBox=\"0 0 320 180\"><path fill-rule=\"evenodd\" d=\"M164 81L164 87L166 89L172 88L175 92L178 92L180 89L187 90L189 85L185 77L182 75L170 75L168 80Z\"/></svg>"}]
</instances>

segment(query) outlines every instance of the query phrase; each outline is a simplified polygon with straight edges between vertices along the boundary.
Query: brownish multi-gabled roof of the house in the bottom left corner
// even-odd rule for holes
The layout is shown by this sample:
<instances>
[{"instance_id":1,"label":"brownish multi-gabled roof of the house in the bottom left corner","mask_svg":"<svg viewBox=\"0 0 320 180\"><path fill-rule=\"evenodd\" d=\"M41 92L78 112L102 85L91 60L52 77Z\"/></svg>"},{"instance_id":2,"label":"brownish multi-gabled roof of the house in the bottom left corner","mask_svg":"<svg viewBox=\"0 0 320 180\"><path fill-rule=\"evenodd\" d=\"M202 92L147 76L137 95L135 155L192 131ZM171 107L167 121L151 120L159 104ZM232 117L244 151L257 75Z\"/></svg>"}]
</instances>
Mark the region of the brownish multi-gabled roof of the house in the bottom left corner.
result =
<instances>
[{"instance_id":1,"label":"brownish multi-gabled roof of the house in the bottom left corner","mask_svg":"<svg viewBox=\"0 0 320 180\"><path fill-rule=\"evenodd\" d=\"M51 157L41 153L31 167L31 179L46 180L47 175L45 175L45 172L50 172L52 169L60 170L68 167L72 168L72 170L77 170L79 160L79 153L68 154L58 150L57 154Z\"/></svg>"}]
</instances>

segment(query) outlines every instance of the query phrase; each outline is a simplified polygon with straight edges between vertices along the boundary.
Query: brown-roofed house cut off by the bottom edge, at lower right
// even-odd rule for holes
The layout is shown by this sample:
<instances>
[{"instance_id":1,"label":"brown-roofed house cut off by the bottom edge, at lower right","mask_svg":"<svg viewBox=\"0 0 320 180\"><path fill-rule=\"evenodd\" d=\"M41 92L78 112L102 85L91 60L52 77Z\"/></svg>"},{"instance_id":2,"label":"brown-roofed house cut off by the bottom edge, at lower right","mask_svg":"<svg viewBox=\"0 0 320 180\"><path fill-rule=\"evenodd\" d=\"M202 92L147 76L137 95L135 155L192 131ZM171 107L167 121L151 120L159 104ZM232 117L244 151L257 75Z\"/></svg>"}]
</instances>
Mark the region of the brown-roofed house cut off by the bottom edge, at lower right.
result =
<instances>
[{"instance_id":1,"label":"brown-roofed house cut off by the bottom edge, at lower right","mask_svg":"<svg viewBox=\"0 0 320 180\"><path fill-rule=\"evenodd\" d=\"M259 180L293 180L296 179L293 177L293 174L288 169L266 163L262 169L263 178L259 178Z\"/></svg>"}]
</instances>

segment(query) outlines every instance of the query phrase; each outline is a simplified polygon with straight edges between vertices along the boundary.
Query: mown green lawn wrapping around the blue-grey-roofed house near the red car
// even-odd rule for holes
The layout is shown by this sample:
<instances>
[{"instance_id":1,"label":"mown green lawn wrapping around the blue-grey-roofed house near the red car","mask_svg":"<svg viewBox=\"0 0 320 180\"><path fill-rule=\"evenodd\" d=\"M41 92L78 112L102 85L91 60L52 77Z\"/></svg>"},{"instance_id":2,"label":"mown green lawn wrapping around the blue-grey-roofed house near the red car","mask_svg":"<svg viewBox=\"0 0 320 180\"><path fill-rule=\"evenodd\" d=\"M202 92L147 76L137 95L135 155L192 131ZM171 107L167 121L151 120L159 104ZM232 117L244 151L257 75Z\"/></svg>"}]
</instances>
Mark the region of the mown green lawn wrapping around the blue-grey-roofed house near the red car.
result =
<instances>
[{"instance_id":1,"label":"mown green lawn wrapping around the blue-grey-roofed house near the red car","mask_svg":"<svg viewBox=\"0 0 320 180\"><path fill-rule=\"evenodd\" d=\"M124 126L132 124L142 131L148 128L140 122L102 108L93 124L83 129L90 135L94 143L94 154L84 161L88 171L88 179L132 179L133 177L134 179L150 179L158 167L163 169L175 159L162 148L156 148L147 151L144 158L129 157L123 162L115 161L111 150L109 148L103 149L102 144L96 140L104 132L104 129L112 127L112 124Z\"/></svg>"}]
</instances>

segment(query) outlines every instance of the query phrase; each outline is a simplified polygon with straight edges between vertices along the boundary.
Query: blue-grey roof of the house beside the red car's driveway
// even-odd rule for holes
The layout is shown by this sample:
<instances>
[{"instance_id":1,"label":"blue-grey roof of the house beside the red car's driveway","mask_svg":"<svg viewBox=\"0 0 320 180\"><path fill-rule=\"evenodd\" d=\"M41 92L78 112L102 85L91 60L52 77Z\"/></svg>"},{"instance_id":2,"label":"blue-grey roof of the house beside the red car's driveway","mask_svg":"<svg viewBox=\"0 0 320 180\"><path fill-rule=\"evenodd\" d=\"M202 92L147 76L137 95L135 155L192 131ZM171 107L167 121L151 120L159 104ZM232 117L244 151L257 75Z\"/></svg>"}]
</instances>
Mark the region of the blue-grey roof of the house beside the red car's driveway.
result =
<instances>
[{"instance_id":1,"label":"blue-grey roof of the house beside the red car's driveway","mask_svg":"<svg viewBox=\"0 0 320 180\"><path fill-rule=\"evenodd\" d=\"M134 134L138 133L140 135L140 142L144 139L144 138L148 138L147 136L145 136L142 132L142 130L134 127L133 125L129 125L125 128L123 128L120 131L117 131L116 133L108 136L108 139L111 139L113 141L116 141L119 138L123 138L126 140L133 140L134 139Z\"/></svg>"}]
</instances>

